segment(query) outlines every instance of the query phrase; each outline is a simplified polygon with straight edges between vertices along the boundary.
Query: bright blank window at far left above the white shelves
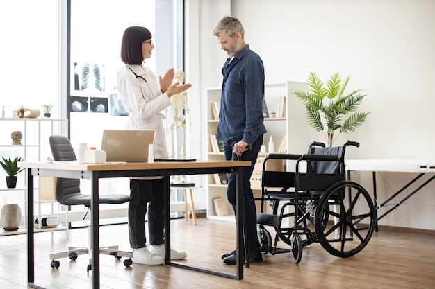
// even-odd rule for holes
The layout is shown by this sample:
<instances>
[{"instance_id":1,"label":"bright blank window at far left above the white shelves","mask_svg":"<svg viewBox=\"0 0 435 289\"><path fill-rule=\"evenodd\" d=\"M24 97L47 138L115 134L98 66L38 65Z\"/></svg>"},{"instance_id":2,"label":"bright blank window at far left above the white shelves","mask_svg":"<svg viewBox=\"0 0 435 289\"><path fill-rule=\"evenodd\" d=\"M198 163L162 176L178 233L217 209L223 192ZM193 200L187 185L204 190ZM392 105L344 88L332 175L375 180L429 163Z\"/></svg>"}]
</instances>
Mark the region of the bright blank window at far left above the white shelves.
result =
<instances>
[{"instance_id":1,"label":"bright blank window at far left above the white shelves","mask_svg":"<svg viewBox=\"0 0 435 289\"><path fill-rule=\"evenodd\" d=\"M51 113L59 112L58 11L58 1L0 2L0 95L6 117L20 105L42 111L51 103Z\"/></svg>"}]
</instances>

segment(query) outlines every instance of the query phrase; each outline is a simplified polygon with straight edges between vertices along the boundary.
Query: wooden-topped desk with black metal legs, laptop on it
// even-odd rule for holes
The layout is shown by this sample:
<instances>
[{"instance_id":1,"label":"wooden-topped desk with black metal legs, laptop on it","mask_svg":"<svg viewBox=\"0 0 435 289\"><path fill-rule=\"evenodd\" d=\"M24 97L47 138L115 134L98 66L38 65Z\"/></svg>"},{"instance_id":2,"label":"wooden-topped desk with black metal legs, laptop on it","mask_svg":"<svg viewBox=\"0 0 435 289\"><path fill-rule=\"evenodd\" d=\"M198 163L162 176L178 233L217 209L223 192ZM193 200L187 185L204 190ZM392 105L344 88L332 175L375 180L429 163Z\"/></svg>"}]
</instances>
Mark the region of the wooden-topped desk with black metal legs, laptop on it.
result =
<instances>
[{"instance_id":1,"label":"wooden-topped desk with black metal legs, laptop on it","mask_svg":"<svg viewBox=\"0 0 435 289\"><path fill-rule=\"evenodd\" d=\"M215 274L232 279L243 279L244 243L243 243L243 167L250 166L250 161L192 161L192 162L155 162L155 163L105 163L105 164L77 164L76 161L24 161L19 167L27 168L27 223L33 224L33 177L66 177L71 179L90 179L91 181L91 246L92 246L92 288L99 288L99 179L106 177L165 177L165 263L180 268ZM237 188L236 215L236 274L208 270L180 263L173 263L170 259L170 176L198 175L213 173L235 173ZM27 226L27 266L28 286L42 288L35 284L35 252L34 228ZM48 265L48 264L47 264ZM84 270L83 270L84 272Z\"/></svg>"}]
</instances>

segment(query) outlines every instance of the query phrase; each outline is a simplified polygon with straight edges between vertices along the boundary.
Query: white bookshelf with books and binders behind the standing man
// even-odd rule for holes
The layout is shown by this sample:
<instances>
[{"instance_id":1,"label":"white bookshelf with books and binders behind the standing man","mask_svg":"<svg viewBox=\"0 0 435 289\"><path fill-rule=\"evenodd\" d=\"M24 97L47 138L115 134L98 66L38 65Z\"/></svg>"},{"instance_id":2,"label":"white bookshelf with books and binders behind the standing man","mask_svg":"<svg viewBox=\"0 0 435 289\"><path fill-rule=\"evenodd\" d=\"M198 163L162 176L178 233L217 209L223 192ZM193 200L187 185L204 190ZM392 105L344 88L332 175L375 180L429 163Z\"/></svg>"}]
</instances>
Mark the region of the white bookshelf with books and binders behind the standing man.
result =
<instances>
[{"instance_id":1,"label":"white bookshelf with books and binders behind the standing man","mask_svg":"<svg viewBox=\"0 0 435 289\"><path fill-rule=\"evenodd\" d=\"M294 99L293 91L307 91L308 86L304 82L281 82L276 84L265 85L265 102L268 106L269 114L271 112L276 112L277 105L279 103L279 99L281 96L286 97L286 116L289 116L289 113L293 109ZM207 121L207 152L208 159L211 160L222 160L224 159L223 152L213 152L210 141L210 134L215 133L217 130L218 120L213 118L212 112L212 103L217 102L220 103L221 97L221 88L209 88L206 89L206 121ZM288 117L274 117L274 118L265 118L264 125L266 130L268 131L264 135L263 144L268 147L268 141L270 135L272 135L274 139L275 149L279 146L279 143L284 136L287 135L287 151L290 152L289 148L291 139L291 126L297 125L297 123L291 123L288 121ZM267 152L268 153L268 152ZM266 154L259 154L258 161L261 161ZM252 186L252 190L254 191L254 196L259 196L261 194L261 186ZM227 205L227 211L230 213L229 216L217 216L215 213L215 208L213 206L214 198L222 198L225 200L225 204ZM257 205L257 209L259 209L259 205ZM223 220L223 221L234 221L233 209L231 208L231 204L227 201L227 186L223 184L215 184L214 178L212 175L208 176L208 186L207 186L207 218L215 219L215 220Z\"/></svg>"}]
</instances>

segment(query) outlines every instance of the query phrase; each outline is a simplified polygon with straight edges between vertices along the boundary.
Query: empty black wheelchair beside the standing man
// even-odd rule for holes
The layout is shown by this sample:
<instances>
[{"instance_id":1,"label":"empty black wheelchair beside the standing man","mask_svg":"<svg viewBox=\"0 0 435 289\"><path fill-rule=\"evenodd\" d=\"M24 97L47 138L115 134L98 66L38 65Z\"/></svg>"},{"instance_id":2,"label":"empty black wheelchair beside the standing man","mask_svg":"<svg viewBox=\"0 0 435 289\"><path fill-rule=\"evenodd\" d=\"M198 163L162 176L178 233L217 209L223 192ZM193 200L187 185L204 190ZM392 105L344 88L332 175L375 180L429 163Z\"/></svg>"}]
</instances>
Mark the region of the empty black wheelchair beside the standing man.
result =
<instances>
[{"instance_id":1,"label":"empty black wheelchair beside the standing man","mask_svg":"<svg viewBox=\"0 0 435 289\"><path fill-rule=\"evenodd\" d=\"M375 229L375 207L360 184L346 180L344 146L325 148L313 142L305 155L270 154L263 163L258 239L263 254L293 253L295 263L302 248L313 243L334 256L359 253ZM268 170L268 161L295 163L294 171ZM287 170L287 169L286 169ZM267 207L270 211L266 212ZM274 227L272 238L266 227ZM287 248L277 247L278 242ZM290 247L290 249L288 249Z\"/></svg>"}]
</instances>

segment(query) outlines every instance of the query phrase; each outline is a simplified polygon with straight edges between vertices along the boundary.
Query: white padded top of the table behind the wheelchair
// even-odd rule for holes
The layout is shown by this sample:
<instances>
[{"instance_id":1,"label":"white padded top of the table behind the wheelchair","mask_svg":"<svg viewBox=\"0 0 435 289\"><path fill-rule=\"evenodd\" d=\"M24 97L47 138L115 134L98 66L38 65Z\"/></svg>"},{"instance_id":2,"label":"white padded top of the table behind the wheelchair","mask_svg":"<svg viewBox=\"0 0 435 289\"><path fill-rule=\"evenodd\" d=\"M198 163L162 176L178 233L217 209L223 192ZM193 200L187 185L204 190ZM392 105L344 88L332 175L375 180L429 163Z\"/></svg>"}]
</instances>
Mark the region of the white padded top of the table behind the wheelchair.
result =
<instances>
[{"instance_id":1,"label":"white padded top of the table behind the wheelchair","mask_svg":"<svg viewBox=\"0 0 435 289\"><path fill-rule=\"evenodd\" d=\"M370 172L435 172L435 161L428 159L349 159L345 160L346 170Z\"/></svg>"}]
</instances>

